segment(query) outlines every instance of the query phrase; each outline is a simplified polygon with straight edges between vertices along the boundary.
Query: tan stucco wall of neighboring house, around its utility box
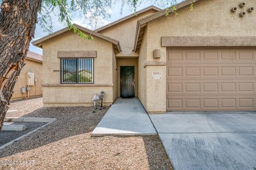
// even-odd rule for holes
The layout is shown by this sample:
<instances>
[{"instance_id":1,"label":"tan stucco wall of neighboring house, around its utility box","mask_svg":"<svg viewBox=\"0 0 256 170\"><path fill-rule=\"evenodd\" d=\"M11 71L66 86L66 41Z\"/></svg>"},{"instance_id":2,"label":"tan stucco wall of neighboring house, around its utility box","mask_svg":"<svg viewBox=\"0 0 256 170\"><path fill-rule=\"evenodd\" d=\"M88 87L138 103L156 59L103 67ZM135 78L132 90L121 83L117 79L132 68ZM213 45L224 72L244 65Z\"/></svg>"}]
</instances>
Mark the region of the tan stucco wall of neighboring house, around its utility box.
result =
<instances>
[{"instance_id":1,"label":"tan stucco wall of neighboring house, around its utility box","mask_svg":"<svg viewBox=\"0 0 256 170\"><path fill-rule=\"evenodd\" d=\"M29 59L25 59L26 65L22 68L20 72L20 76L18 77L18 81L16 82L14 88L13 88L13 95L12 100L25 98L25 94L21 94L20 88L27 86L27 72L34 72L35 79L37 79L37 82L35 82L35 86L31 86L30 90L30 97L34 96L41 96L43 94L43 64L42 62L32 61Z\"/></svg>"}]
</instances>

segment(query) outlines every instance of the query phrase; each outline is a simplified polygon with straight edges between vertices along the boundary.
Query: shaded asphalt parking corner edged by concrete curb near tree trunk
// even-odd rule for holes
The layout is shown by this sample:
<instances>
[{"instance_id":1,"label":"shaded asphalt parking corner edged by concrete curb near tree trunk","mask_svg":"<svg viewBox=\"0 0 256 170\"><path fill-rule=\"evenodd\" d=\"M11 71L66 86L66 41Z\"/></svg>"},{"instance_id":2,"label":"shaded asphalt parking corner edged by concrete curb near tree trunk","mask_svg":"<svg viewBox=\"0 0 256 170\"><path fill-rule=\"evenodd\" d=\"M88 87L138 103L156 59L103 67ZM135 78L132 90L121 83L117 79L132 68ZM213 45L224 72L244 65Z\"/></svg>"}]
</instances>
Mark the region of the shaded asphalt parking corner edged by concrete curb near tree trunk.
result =
<instances>
[{"instance_id":1,"label":"shaded asphalt parking corner edged by concrete curb near tree trunk","mask_svg":"<svg viewBox=\"0 0 256 170\"><path fill-rule=\"evenodd\" d=\"M0 147L45 124L41 122L13 122L11 125L25 125L27 129L25 131L0 131Z\"/></svg>"}]
</instances>

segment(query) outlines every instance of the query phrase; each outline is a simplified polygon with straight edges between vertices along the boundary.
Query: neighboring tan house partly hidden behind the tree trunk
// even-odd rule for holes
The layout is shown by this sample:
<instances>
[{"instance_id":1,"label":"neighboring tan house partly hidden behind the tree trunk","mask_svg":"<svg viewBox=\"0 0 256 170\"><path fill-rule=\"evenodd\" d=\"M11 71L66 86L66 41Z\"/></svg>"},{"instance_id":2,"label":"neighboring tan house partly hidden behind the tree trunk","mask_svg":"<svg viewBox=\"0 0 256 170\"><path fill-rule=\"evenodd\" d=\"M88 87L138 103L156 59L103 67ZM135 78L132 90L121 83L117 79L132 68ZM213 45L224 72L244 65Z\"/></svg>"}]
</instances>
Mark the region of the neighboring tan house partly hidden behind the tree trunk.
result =
<instances>
[{"instance_id":1,"label":"neighboring tan house partly hidden behind the tree trunk","mask_svg":"<svg viewBox=\"0 0 256 170\"><path fill-rule=\"evenodd\" d=\"M14 93L11 100L33 98L36 96L42 96L43 94L43 56L28 51L25 58L25 64L26 65L22 68L18 80L13 88ZM30 87L30 90L27 88L28 86ZM22 91L21 88L25 91Z\"/></svg>"}]
</instances>

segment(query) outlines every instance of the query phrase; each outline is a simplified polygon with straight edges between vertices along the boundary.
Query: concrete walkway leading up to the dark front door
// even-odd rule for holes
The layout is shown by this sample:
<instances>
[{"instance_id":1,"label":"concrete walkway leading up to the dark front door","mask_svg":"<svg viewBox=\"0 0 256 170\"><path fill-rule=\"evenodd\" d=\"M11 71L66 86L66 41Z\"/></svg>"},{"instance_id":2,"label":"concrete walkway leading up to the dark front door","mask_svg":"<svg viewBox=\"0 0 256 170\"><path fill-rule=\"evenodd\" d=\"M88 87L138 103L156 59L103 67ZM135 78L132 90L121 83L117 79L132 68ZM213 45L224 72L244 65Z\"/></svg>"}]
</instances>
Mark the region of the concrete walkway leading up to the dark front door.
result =
<instances>
[{"instance_id":1,"label":"concrete walkway leading up to the dark front door","mask_svg":"<svg viewBox=\"0 0 256 170\"><path fill-rule=\"evenodd\" d=\"M147 112L137 98L118 98L92 132L92 136L156 134Z\"/></svg>"}]
</instances>

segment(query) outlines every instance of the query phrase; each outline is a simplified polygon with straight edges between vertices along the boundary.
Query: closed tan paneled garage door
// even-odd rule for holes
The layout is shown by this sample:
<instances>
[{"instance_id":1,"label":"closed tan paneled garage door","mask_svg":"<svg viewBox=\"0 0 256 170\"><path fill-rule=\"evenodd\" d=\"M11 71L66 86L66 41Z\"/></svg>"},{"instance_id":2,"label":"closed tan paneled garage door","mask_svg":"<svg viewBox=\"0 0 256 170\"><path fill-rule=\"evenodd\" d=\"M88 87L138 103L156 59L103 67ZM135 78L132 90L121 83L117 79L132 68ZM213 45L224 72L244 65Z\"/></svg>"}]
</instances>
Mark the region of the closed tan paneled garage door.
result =
<instances>
[{"instance_id":1,"label":"closed tan paneled garage door","mask_svg":"<svg viewBox=\"0 0 256 170\"><path fill-rule=\"evenodd\" d=\"M168 111L256 110L255 48L167 48Z\"/></svg>"}]
</instances>

